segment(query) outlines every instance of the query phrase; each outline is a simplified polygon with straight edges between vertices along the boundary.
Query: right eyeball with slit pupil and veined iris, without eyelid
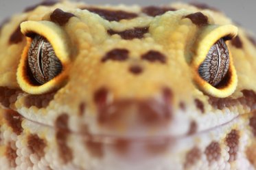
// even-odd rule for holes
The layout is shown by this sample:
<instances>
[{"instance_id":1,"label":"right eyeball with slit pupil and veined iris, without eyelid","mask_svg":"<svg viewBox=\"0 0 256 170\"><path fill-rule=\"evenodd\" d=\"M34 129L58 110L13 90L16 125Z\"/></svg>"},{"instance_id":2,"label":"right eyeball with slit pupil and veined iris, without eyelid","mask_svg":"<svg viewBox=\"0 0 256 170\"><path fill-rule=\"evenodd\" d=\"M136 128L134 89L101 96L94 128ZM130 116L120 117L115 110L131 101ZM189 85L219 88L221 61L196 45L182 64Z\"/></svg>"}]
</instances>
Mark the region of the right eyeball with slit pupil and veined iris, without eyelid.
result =
<instances>
[{"instance_id":1,"label":"right eyeball with slit pupil and veined iris, without eyelid","mask_svg":"<svg viewBox=\"0 0 256 170\"><path fill-rule=\"evenodd\" d=\"M223 38L211 46L207 57L198 68L202 79L216 87L229 70L229 49Z\"/></svg>"}]
</instances>

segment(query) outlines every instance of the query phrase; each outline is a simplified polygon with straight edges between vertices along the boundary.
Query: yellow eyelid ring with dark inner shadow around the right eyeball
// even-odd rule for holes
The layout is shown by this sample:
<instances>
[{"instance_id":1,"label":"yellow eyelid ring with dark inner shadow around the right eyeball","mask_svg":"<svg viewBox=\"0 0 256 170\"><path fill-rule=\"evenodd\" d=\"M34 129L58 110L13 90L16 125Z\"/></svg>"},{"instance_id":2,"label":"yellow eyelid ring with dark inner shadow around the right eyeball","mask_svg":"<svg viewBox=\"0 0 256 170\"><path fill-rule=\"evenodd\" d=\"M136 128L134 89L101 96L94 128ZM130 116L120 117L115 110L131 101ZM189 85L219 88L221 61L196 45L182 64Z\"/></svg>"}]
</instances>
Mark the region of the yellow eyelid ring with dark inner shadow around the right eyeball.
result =
<instances>
[{"instance_id":1,"label":"yellow eyelid ring with dark inner shadow around the right eyeball","mask_svg":"<svg viewBox=\"0 0 256 170\"><path fill-rule=\"evenodd\" d=\"M218 77L220 80L213 83L205 79L202 72L200 73L202 66L207 62L207 56L211 53L211 48L213 48L215 44L223 44L224 40L230 40L235 36L237 36L237 27L233 25L210 25L202 31L198 38L196 51L191 61L191 68L194 70L194 81L196 85L210 96L225 98L233 94L236 89L237 74L233 66L233 58L228 45L225 48L226 51L228 51L226 53L229 54L229 66L224 70L226 74L222 72L222 75ZM227 44L228 43L229 42L227 42Z\"/></svg>"}]
</instances>

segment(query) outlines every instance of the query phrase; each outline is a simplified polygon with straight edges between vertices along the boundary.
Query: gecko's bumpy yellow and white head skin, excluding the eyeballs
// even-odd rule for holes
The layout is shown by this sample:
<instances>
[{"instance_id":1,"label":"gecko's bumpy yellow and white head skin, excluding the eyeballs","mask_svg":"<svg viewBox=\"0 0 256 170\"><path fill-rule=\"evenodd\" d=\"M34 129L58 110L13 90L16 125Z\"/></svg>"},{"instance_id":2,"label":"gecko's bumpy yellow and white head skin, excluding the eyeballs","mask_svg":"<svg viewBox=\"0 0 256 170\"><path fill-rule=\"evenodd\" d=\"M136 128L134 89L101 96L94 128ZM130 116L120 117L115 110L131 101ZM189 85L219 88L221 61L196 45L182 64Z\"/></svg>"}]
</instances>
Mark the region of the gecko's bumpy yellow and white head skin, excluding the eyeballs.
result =
<instances>
[{"instance_id":1,"label":"gecko's bumpy yellow and white head skin, excluding the eyeballs","mask_svg":"<svg viewBox=\"0 0 256 170\"><path fill-rule=\"evenodd\" d=\"M94 7L138 14L109 21L80 10L88 5L63 1L5 23L0 169L256 169L255 44L222 12L184 3L166 7L175 10L155 17L136 5ZM57 8L73 17L53 22ZM196 12L207 23L185 17ZM22 40L14 43L19 25ZM135 27L149 29L132 40L108 33ZM26 72L31 32L49 40L63 66L40 86ZM226 42L231 77L218 89L197 70L226 37L233 38ZM102 61L117 48L126 49L128 59ZM148 51L163 54L165 62L142 59ZM131 66L141 72L130 72Z\"/></svg>"}]
</instances>

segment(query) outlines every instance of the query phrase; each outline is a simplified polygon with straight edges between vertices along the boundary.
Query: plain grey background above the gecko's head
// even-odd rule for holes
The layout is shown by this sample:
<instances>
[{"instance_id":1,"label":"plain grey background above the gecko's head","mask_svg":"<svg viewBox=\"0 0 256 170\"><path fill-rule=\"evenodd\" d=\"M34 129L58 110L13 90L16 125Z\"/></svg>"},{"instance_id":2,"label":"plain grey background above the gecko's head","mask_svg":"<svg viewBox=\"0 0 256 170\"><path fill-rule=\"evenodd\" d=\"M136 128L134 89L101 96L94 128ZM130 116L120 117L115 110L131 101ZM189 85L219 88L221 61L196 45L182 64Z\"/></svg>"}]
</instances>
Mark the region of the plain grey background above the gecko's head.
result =
<instances>
[{"instance_id":1,"label":"plain grey background above the gecko's head","mask_svg":"<svg viewBox=\"0 0 256 170\"><path fill-rule=\"evenodd\" d=\"M86 0L84 0L86 1ZM174 0L87 0L86 3L89 4L100 4L100 3L110 3L110 4L139 4L139 5L160 5L170 3ZM177 0L178 1L178 0ZM181 1L181 0L180 0ZM184 2L195 2L194 0L182 0ZM23 9L29 5L33 5L40 2L40 0L0 0L0 23L8 16L22 12ZM256 33L256 1L255 0L198 0L198 2L205 2L219 10L225 12L228 16L233 18L237 23L240 23L247 29L250 29Z\"/></svg>"}]
</instances>

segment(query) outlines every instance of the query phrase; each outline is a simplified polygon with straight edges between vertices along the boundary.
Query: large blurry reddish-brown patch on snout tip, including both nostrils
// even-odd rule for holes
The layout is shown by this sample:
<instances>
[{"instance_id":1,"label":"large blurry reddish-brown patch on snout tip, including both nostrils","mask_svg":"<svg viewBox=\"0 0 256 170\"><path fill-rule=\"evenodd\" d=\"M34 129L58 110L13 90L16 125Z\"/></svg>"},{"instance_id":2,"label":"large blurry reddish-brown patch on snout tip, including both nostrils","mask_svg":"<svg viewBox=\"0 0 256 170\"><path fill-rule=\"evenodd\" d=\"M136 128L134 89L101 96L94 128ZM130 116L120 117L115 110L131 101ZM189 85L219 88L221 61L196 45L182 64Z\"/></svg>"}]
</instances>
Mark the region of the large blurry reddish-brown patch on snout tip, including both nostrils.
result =
<instances>
[{"instance_id":1,"label":"large blurry reddish-brown patch on snout tip, including both nostrils","mask_svg":"<svg viewBox=\"0 0 256 170\"><path fill-rule=\"evenodd\" d=\"M136 115L136 121L141 124L156 125L170 121L172 118L171 96L163 92L162 100L154 98L146 100L123 99L106 103L107 91L100 89L95 94L100 124L115 126L117 122L127 122L128 117Z\"/></svg>"}]
</instances>

